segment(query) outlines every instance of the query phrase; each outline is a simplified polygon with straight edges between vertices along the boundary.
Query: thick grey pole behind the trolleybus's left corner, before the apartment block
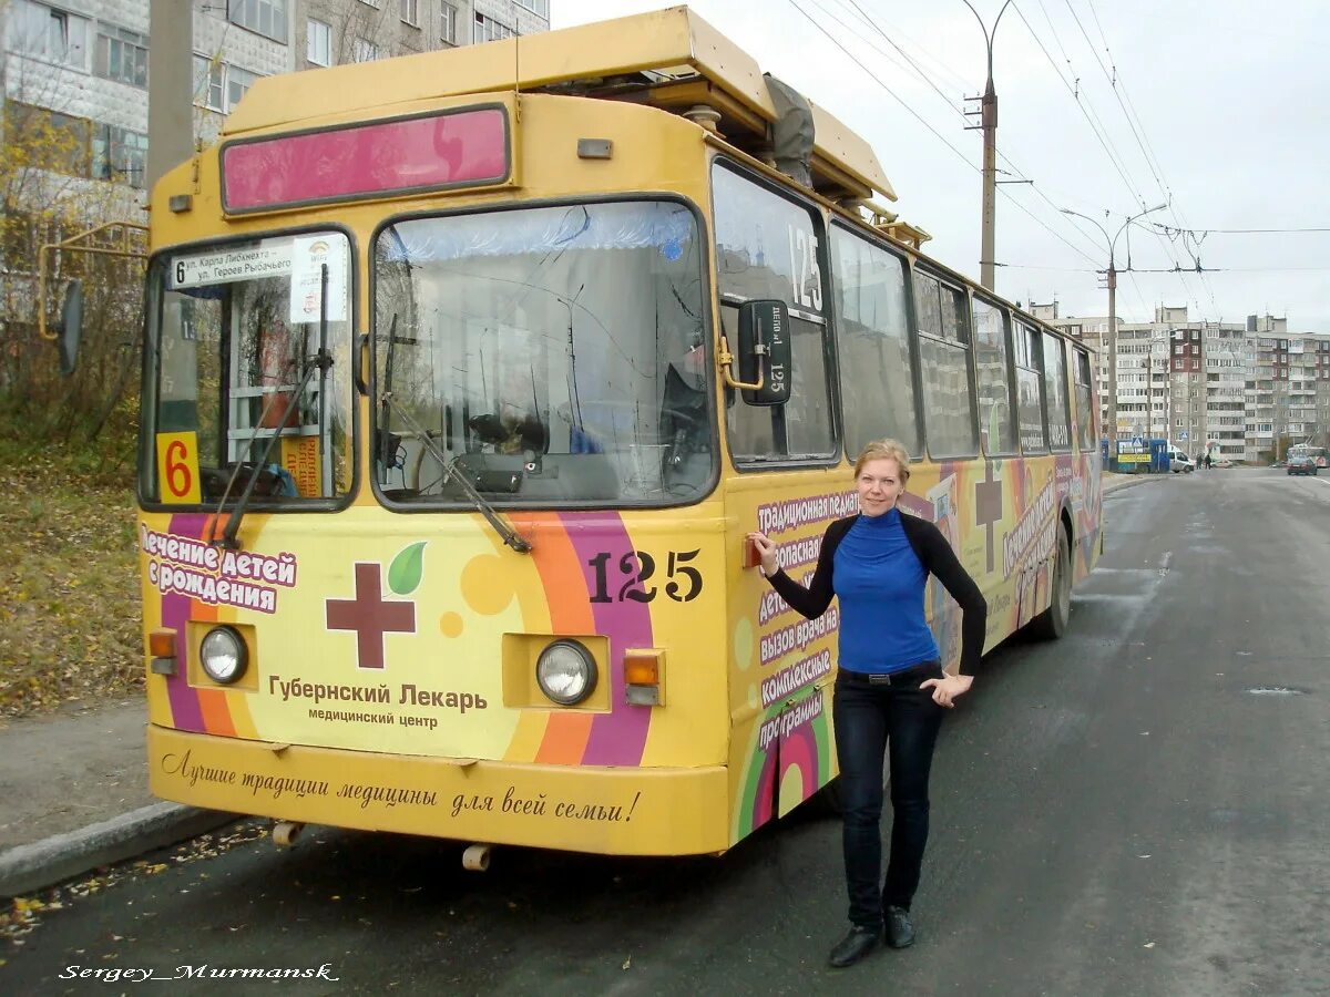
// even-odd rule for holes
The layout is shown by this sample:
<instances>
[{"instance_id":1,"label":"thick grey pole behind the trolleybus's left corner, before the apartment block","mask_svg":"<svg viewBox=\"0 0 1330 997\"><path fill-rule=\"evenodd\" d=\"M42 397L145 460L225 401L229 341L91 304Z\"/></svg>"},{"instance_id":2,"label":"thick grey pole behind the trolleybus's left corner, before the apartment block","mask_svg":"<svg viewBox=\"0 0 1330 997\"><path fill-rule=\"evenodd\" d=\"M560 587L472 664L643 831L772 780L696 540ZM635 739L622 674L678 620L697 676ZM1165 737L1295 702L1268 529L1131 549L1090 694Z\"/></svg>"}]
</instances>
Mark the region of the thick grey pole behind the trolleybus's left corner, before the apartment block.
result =
<instances>
[{"instance_id":1,"label":"thick grey pole behind the trolleybus's left corner, before the apartment block","mask_svg":"<svg viewBox=\"0 0 1330 997\"><path fill-rule=\"evenodd\" d=\"M194 4L152 0L148 24L148 175L144 190L194 154Z\"/></svg>"}]
</instances>

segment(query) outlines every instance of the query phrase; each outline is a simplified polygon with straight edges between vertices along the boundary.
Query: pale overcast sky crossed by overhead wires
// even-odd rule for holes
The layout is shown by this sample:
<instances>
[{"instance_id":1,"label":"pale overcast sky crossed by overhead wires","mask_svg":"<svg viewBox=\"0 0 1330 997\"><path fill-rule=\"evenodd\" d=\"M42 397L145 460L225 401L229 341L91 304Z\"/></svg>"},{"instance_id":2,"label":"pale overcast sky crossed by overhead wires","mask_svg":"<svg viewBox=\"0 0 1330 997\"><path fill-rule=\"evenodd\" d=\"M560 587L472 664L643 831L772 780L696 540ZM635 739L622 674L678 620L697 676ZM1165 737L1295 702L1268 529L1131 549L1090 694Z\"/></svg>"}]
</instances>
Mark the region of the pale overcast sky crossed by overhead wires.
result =
<instances>
[{"instance_id":1,"label":"pale overcast sky crossed by overhead wires","mask_svg":"<svg viewBox=\"0 0 1330 997\"><path fill-rule=\"evenodd\" d=\"M990 27L1003 5L971 3ZM665 5L553 0L552 27ZM962 0L690 7L867 138L899 197L892 209L932 234L924 250L979 279L982 133L963 130L959 110L983 92L986 52ZM1200 246L1132 226L1130 263L1190 271L1121 274L1123 320L1148 322L1162 303L1212 322L1269 312L1287 315L1290 331L1330 331L1330 231L1217 231L1330 230L1330 134L1318 124L1327 36L1325 0L1012 0L994 44L999 179L1035 183L999 187L998 292L1056 298L1064 316L1107 314L1093 273L1108 262L1104 235L1059 209L1112 235L1170 195L1142 222L1194 230ZM1197 255L1216 273L1196 274ZM1127 267L1125 234L1116 262Z\"/></svg>"}]
</instances>

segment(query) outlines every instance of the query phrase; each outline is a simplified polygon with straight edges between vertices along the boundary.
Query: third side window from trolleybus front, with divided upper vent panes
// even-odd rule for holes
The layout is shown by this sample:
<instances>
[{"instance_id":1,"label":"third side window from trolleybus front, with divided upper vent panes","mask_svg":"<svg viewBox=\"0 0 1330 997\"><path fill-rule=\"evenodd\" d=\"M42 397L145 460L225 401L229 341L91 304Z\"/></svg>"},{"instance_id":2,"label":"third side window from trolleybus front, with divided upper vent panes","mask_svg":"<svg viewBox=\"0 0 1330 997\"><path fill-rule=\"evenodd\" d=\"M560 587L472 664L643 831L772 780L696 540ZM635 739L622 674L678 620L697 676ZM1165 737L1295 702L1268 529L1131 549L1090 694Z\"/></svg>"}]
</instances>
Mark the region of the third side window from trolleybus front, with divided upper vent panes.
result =
<instances>
[{"instance_id":1,"label":"third side window from trolleybus front, with divided upper vent panes","mask_svg":"<svg viewBox=\"0 0 1330 997\"><path fill-rule=\"evenodd\" d=\"M970 393L970 322L963 291L915 270L919 328L919 382L924 437L932 457L972 457L979 452Z\"/></svg>"}]
</instances>

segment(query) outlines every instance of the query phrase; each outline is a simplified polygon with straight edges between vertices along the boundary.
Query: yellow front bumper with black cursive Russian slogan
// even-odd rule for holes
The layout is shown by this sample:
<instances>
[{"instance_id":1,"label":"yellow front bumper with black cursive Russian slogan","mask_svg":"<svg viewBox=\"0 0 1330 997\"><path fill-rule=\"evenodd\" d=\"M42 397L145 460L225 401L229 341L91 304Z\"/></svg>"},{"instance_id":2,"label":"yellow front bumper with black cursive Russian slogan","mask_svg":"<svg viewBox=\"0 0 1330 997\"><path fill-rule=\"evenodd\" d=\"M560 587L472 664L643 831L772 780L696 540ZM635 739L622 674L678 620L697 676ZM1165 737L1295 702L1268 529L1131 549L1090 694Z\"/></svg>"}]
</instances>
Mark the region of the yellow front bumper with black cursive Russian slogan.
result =
<instances>
[{"instance_id":1,"label":"yellow front bumper with black cursive Russian slogan","mask_svg":"<svg viewBox=\"0 0 1330 997\"><path fill-rule=\"evenodd\" d=\"M604 855L729 847L724 766L616 768L383 755L148 724L152 791L309 824Z\"/></svg>"}]
</instances>

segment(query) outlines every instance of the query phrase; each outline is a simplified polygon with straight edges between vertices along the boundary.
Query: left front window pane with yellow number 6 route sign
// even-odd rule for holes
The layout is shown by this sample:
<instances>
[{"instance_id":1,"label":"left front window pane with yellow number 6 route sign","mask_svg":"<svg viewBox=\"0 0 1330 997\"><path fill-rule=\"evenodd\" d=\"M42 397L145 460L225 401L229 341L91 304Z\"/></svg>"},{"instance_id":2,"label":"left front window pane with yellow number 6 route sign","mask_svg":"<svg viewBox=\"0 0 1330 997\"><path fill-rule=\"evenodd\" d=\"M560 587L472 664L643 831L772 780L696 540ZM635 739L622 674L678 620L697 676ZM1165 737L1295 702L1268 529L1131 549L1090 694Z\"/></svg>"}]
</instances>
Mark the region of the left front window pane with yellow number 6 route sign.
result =
<instances>
[{"instance_id":1,"label":"left front window pane with yellow number 6 route sign","mask_svg":"<svg viewBox=\"0 0 1330 997\"><path fill-rule=\"evenodd\" d=\"M326 370L319 364L323 265ZM350 491L350 265L340 233L158 259L153 384L145 399L157 455L144 461L145 501L215 504L229 484L237 497L250 473L258 504ZM246 468L237 472L241 464Z\"/></svg>"}]
</instances>

